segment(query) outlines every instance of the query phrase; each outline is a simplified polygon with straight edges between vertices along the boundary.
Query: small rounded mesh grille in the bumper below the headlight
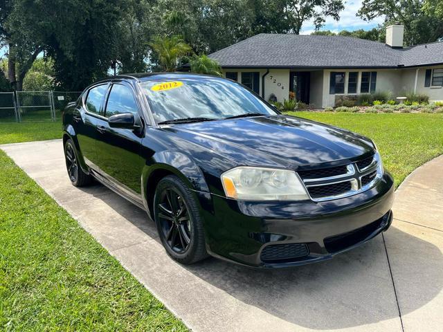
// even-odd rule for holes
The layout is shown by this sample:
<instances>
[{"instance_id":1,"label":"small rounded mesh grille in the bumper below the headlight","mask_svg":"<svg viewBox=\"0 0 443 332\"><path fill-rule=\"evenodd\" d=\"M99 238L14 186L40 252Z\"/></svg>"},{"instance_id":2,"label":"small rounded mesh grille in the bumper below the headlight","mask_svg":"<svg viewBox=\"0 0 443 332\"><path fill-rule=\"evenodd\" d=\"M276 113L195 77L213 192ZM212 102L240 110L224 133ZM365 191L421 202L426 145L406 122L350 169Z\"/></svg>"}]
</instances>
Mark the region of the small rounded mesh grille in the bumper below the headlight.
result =
<instances>
[{"instance_id":1,"label":"small rounded mesh grille in the bumper below the headlight","mask_svg":"<svg viewBox=\"0 0 443 332\"><path fill-rule=\"evenodd\" d=\"M260 258L264 263L291 261L309 255L306 243L271 244L264 247Z\"/></svg>"}]
</instances>

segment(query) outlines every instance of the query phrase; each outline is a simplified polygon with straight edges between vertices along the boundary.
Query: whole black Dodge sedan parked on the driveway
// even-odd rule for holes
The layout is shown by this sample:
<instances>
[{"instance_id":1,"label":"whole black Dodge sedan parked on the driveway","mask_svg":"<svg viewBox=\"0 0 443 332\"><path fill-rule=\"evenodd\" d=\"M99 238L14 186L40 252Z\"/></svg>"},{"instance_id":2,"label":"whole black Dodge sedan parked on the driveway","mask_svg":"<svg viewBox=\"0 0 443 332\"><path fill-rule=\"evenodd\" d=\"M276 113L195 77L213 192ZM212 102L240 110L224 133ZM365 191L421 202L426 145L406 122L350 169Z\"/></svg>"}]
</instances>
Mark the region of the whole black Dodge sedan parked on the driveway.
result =
<instances>
[{"instance_id":1,"label":"whole black Dodge sedan parked on the driveway","mask_svg":"<svg viewBox=\"0 0 443 332\"><path fill-rule=\"evenodd\" d=\"M94 178L146 210L183 264L307 264L392 221L392 177L369 138L282 115L237 82L112 77L66 107L63 127L73 185Z\"/></svg>"}]
</instances>

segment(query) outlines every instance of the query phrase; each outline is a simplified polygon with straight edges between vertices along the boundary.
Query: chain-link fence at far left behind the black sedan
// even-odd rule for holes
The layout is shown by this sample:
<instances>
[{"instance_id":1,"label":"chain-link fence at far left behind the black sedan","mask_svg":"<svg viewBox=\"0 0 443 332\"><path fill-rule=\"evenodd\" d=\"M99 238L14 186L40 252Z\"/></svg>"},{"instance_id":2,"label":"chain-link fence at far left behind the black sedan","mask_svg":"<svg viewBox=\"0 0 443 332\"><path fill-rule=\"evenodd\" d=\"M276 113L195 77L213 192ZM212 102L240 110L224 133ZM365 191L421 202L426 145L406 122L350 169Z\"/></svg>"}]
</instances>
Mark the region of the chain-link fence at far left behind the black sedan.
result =
<instances>
[{"instance_id":1,"label":"chain-link fence at far left behind the black sedan","mask_svg":"<svg viewBox=\"0 0 443 332\"><path fill-rule=\"evenodd\" d=\"M17 91L0 93L1 122L56 121L79 91Z\"/></svg>"}]
</instances>

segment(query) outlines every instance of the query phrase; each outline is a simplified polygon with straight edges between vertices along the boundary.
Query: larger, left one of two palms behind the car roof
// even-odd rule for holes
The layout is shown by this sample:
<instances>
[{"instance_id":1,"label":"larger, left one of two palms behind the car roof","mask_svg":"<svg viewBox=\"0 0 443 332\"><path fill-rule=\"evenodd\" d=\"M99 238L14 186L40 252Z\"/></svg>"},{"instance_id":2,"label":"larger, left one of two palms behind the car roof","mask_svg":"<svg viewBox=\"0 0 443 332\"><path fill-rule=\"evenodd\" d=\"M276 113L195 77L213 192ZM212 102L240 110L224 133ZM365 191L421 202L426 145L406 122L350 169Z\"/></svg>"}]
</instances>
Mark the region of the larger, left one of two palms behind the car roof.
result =
<instances>
[{"instance_id":1,"label":"larger, left one of two palms behind the car roof","mask_svg":"<svg viewBox=\"0 0 443 332\"><path fill-rule=\"evenodd\" d=\"M155 37L150 46L156 53L163 71L176 71L179 60L192 50L180 36Z\"/></svg>"}]
</instances>

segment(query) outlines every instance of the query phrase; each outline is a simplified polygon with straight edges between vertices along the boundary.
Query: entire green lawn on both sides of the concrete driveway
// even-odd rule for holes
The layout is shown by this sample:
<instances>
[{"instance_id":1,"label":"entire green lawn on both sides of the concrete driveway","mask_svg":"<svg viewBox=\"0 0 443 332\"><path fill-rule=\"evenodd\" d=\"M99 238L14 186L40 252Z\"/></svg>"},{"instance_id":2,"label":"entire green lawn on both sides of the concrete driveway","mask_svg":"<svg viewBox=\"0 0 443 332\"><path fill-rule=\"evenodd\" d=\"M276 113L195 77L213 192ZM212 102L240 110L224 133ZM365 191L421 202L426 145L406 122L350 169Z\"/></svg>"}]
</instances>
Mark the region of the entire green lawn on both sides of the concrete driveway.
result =
<instances>
[{"instance_id":1,"label":"entire green lawn on both sides of the concrete driveway","mask_svg":"<svg viewBox=\"0 0 443 332\"><path fill-rule=\"evenodd\" d=\"M443 153L443 114L311 113L372 138L398 185ZM0 124L0 144L61 137L60 122ZM0 151L0 331L186 331Z\"/></svg>"}]
</instances>

